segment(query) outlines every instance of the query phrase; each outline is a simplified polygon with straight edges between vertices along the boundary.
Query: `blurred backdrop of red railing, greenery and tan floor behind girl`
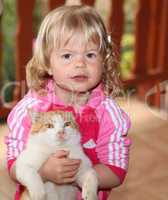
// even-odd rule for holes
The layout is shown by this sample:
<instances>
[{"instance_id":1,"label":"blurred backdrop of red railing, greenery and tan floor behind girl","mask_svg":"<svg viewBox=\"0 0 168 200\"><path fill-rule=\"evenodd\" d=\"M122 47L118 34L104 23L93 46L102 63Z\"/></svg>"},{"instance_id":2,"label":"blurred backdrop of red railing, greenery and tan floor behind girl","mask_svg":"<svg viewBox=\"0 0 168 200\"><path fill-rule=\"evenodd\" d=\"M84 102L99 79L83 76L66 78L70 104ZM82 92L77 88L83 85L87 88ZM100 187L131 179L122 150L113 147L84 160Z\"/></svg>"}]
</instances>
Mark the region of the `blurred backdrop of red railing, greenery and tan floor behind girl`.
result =
<instances>
[{"instance_id":1,"label":"blurred backdrop of red railing, greenery and tan floor behind girl","mask_svg":"<svg viewBox=\"0 0 168 200\"><path fill-rule=\"evenodd\" d=\"M6 117L27 91L25 65L40 22L55 7L81 3L97 9L112 36L124 85L117 100L132 120L129 172L109 199L166 200L168 0L0 0L0 199L15 190L5 168Z\"/></svg>"}]
</instances>

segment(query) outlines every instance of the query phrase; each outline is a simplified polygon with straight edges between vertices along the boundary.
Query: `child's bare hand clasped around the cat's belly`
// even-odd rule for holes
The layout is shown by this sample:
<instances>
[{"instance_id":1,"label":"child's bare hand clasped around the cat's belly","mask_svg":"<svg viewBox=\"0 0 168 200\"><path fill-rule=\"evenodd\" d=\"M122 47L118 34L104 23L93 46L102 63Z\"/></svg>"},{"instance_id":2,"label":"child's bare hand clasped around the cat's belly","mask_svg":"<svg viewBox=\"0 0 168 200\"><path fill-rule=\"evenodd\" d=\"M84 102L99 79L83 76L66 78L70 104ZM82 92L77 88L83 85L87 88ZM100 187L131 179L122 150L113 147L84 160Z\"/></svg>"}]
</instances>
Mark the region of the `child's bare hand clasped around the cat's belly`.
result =
<instances>
[{"instance_id":1,"label":"child's bare hand clasped around the cat's belly","mask_svg":"<svg viewBox=\"0 0 168 200\"><path fill-rule=\"evenodd\" d=\"M41 177L56 184L74 182L80 160L70 159L68 155L69 152L64 150L52 154L39 170Z\"/></svg>"}]
</instances>

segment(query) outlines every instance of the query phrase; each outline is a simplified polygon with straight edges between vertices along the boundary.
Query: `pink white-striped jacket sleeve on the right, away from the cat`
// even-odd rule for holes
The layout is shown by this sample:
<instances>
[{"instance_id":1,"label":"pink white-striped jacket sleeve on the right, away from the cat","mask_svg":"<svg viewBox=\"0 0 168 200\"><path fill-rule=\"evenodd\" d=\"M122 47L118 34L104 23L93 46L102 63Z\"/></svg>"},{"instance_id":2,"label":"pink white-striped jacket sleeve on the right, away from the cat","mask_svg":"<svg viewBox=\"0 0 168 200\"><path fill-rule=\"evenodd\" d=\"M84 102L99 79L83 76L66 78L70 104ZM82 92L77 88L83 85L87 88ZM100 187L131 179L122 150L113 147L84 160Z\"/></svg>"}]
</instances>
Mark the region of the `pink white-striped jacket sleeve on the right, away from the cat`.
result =
<instances>
[{"instance_id":1,"label":"pink white-striped jacket sleeve on the right, away from the cat","mask_svg":"<svg viewBox=\"0 0 168 200\"><path fill-rule=\"evenodd\" d=\"M107 165L123 182L128 168L130 139L127 137L130 118L111 99L98 110L100 129L96 152L101 163Z\"/></svg>"}]
</instances>

